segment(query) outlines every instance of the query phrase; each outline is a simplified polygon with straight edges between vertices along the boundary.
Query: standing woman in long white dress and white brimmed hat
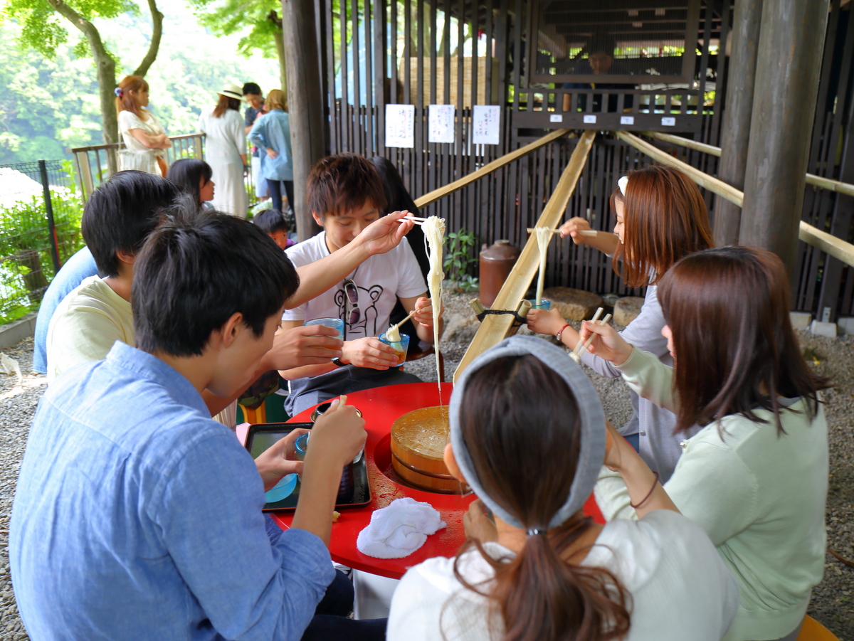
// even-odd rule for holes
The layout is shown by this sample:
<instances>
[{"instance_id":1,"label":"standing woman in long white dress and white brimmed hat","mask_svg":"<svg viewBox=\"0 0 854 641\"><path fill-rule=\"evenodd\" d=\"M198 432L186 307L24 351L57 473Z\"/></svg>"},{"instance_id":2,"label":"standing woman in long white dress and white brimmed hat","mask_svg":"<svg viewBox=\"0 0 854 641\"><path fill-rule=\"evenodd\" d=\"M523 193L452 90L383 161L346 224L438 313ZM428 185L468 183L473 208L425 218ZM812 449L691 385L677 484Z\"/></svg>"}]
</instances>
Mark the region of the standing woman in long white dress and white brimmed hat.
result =
<instances>
[{"instance_id":1,"label":"standing woman in long white dress and white brimmed hat","mask_svg":"<svg viewBox=\"0 0 854 641\"><path fill-rule=\"evenodd\" d=\"M219 91L219 102L210 112L199 116L199 131L207 134L205 160L213 169L216 194L213 207L220 212L246 218L249 198L243 184L246 164L246 131L240 116L243 101L237 84L226 84Z\"/></svg>"}]
</instances>

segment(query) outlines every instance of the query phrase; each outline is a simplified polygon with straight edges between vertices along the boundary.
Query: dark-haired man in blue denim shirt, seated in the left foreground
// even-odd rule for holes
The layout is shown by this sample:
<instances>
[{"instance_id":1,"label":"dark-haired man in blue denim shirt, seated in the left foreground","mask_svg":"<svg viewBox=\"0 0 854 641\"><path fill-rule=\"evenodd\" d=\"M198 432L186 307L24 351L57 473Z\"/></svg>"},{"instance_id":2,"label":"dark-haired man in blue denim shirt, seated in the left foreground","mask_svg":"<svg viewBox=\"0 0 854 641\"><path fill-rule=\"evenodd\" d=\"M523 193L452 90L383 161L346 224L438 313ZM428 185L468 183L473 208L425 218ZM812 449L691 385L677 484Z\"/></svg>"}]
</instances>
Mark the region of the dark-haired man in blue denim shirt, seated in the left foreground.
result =
<instances>
[{"instance_id":1,"label":"dark-haired man in blue denim shirt, seated in the left foreground","mask_svg":"<svg viewBox=\"0 0 854 641\"><path fill-rule=\"evenodd\" d=\"M201 395L249 383L298 286L284 253L242 219L206 215L149 236L132 285L137 347L116 342L67 370L32 424L9 540L32 638L302 637L335 576L325 545L364 421L334 404L305 463L282 461L302 487L293 527L271 544L260 510L278 477L262 480ZM312 638L384 634L376 622L323 624L334 632Z\"/></svg>"}]
</instances>

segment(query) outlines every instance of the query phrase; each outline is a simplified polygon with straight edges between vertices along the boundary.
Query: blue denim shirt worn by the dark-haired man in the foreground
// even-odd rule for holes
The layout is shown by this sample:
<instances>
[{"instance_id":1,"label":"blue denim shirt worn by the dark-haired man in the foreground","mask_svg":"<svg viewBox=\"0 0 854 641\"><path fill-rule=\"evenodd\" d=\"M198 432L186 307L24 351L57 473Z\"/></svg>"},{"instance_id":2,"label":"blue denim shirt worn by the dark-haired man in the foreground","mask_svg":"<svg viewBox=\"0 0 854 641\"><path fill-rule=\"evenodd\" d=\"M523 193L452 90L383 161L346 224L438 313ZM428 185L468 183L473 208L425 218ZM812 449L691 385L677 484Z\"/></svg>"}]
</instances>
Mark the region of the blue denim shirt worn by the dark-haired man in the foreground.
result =
<instances>
[{"instance_id":1,"label":"blue denim shirt worn by the dark-haired man in the foreground","mask_svg":"<svg viewBox=\"0 0 854 641\"><path fill-rule=\"evenodd\" d=\"M116 343L38 408L9 532L31 638L299 639L335 576L312 533L271 545L249 453L184 376Z\"/></svg>"}]
</instances>

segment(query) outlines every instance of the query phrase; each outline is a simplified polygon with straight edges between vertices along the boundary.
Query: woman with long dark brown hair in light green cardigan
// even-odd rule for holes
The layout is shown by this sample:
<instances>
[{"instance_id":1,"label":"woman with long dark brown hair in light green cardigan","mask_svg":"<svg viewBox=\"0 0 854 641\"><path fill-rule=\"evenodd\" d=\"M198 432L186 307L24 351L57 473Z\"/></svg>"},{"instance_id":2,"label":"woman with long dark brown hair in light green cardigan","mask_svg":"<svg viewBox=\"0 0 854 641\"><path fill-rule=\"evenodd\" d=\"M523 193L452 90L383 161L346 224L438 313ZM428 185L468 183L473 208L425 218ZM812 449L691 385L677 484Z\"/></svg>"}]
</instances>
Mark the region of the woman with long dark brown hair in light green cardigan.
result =
<instances>
[{"instance_id":1,"label":"woman with long dark brown hair in light green cardigan","mask_svg":"<svg viewBox=\"0 0 854 641\"><path fill-rule=\"evenodd\" d=\"M641 397L676 412L684 441L664 489L717 545L740 588L726 641L795 639L822 579L828 429L819 390L789 322L789 283L773 253L717 248L662 278L662 334L675 365L635 350L607 326L590 351ZM653 473L617 439L596 499L606 519L644 516ZM651 492L650 492L651 493Z\"/></svg>"}]
</instances>

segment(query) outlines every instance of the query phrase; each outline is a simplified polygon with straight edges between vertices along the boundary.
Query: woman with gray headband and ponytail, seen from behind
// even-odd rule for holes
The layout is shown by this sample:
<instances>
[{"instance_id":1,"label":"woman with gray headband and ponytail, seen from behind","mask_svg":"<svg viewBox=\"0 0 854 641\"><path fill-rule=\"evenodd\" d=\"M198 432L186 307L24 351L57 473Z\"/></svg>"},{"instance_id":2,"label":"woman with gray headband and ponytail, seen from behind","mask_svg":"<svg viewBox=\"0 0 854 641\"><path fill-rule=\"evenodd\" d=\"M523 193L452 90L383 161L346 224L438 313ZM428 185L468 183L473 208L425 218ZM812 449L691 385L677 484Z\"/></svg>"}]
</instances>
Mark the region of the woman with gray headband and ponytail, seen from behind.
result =
<instances>
[{"instance_id":1,"label":"woman with gray headband and ponytail, seen from behind","mask_svg":"<svg viewBox=\"0 0 854 641\"><path fill-rule=\"evenodd\" d=\"M457 382L450 422L447 467L480 500L457 558L401 580L389 641L722 638L738 589L657 483L638 499L654 510L638 522L583 515L616 432L562 350L534 337L500 342Z\"/></svg>"}]
</instances>

